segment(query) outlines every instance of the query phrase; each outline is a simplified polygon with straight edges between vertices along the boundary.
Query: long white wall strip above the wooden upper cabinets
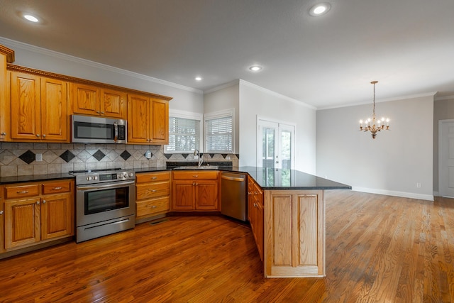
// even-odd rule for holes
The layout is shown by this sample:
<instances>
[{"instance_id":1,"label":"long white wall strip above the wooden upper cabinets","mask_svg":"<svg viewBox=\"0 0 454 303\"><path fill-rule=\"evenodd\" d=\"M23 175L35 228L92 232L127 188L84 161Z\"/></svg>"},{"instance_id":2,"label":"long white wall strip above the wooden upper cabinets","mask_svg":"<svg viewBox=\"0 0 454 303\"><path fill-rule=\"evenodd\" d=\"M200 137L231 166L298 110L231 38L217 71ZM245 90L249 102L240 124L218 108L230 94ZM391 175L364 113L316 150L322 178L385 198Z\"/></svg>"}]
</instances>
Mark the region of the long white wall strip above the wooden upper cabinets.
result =
<instances>
[{"instance_id":1,"label":"long white wall strip above the wooden upper cabinets","mask_svg":"<svg viewBox=\"0 0 454 303\"><path fill-rule=\"evenodd\" d=\"M14 50L16 61L13 64L15 65L161 94L173 98L169 104L170 109L196 113L204 112L203 92L198 89L183 87L175 83L56 53L6 38L0 37L0 44Z\"/></svg>"}]
</instances>

